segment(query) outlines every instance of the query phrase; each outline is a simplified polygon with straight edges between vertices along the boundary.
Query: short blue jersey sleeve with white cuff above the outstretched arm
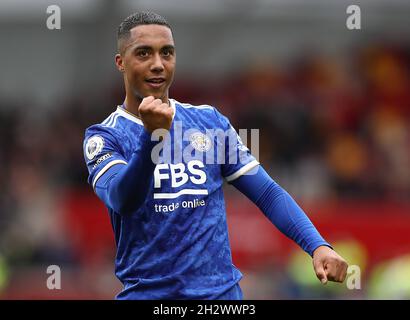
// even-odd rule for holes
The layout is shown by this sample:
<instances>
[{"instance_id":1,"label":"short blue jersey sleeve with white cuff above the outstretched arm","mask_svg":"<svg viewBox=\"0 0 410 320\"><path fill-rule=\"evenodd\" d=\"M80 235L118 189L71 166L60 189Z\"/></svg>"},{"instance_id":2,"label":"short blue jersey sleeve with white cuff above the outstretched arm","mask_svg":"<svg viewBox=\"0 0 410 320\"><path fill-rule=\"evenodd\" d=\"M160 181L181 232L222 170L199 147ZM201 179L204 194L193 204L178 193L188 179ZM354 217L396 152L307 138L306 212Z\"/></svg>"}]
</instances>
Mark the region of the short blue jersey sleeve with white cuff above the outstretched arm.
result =
<instances>
[{"instance_id":1,"label":"short blue jersey sleeve with white cuff above the outstretched arm","mask_svg":"<svg viewBox=\"0 0 410 320\"><path fill-rule=\"evenodd\" d=\"M231 182L244 174L250 174L251 169L259 165L259 161L244 145L228 118L217 110L215 111L225 131L225 161L221 165L222 176L227 182Z\"/></svg>"}]
</instances>

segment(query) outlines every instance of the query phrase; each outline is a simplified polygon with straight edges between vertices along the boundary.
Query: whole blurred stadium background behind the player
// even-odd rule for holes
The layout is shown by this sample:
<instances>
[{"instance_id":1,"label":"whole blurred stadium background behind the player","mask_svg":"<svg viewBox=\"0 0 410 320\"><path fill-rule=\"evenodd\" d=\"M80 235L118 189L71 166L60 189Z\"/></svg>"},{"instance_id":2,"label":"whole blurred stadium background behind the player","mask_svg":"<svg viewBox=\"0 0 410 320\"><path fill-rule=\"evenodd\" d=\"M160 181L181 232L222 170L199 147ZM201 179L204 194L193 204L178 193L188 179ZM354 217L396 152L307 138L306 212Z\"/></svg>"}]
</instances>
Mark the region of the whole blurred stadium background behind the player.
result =
<instances>
[{"instance_id":1,"label":"whole blurred stadium background behind the player","mask_svg":"<svg viewBox=\"0 0 410 320\"><path fill-rule=\"evenodd\" d=\"M46 28L46 8L62 28ZM362 29L346 28L361 8ZM315 279L307 254L226 186L248 299L410 298L410 2L0 2L0 299L112 299L114 240L86 183L87 126L124 96L116 29L151 9L174 28L171 97L260 129L260 161L361 270ZM59 265L62 289L48 290Z\"/></svg>"}]
</instances>

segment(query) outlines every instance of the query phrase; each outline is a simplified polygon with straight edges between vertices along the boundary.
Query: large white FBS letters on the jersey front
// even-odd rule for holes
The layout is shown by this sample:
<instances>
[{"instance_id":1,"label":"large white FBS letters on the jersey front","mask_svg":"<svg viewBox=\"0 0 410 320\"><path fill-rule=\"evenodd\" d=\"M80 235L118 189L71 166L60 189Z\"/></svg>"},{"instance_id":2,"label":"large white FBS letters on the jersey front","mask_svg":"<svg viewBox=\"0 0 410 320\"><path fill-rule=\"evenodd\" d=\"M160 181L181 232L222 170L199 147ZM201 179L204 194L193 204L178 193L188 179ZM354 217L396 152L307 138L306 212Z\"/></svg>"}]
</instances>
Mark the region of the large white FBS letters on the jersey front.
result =
<instances>
[{"instance_id":1,"label":"large white FBS letters on the jersey front","mask_svg":"<svg viewBox=\"0 0 410 320\"><path fill-rule=\"evenodd\" d=\"M163 180L171 180L172 188L178 188L188 181L203 184L206 182L206 173L201 168L204 167L205 165L199 160L191 160L186 166L184 163L158 164L154 170L154 187L161 188Z\"/></svg>"}]
</instances>

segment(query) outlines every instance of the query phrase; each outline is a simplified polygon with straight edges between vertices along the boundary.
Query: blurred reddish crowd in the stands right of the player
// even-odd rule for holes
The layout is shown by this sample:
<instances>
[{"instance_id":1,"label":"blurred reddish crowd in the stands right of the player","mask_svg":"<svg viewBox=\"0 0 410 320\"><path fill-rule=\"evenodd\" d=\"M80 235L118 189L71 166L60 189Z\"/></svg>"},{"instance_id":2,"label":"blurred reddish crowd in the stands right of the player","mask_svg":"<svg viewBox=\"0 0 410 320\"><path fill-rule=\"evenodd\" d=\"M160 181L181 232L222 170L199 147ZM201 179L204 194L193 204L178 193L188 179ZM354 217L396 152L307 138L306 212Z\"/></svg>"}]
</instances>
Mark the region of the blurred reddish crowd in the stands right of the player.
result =
<instances>
[{"instance_id":1,"label":"blurred reddish crowd in the stands right of the player","mask_svg":"<svg viewBox=\"0 0 410 320\"><path fill-rule=\"evenodd\" d=\"M408 50L304 54L286 66L256 61L216 94L237 127L260 129L261 163L296 197L405 201Z\"/></svg>"}]
</instances>

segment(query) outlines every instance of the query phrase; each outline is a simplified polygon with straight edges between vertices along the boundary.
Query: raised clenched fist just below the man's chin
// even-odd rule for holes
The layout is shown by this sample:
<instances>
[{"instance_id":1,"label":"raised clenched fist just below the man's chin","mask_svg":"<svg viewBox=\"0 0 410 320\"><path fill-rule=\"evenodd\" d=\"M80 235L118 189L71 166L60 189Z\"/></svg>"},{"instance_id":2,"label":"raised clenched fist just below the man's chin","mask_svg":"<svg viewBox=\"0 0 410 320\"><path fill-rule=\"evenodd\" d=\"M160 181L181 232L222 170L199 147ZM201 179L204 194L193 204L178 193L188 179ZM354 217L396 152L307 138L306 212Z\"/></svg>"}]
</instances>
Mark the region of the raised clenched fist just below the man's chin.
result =
<instances>
[{"instance_id":1,"label":"raised clenched fist just below the man's chin","mask_svg":"<svg viewBox=\"0 0 410 320\"><path fill-rule=\"evenodd\" d=\"M145 97L138 107L138 113L145 129L150 133L156 129L171 128L173 109L161 99L155 99L153 96Z\"/></svg>"}]
</instances>

